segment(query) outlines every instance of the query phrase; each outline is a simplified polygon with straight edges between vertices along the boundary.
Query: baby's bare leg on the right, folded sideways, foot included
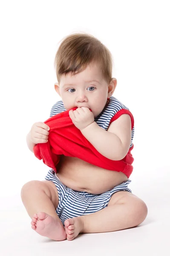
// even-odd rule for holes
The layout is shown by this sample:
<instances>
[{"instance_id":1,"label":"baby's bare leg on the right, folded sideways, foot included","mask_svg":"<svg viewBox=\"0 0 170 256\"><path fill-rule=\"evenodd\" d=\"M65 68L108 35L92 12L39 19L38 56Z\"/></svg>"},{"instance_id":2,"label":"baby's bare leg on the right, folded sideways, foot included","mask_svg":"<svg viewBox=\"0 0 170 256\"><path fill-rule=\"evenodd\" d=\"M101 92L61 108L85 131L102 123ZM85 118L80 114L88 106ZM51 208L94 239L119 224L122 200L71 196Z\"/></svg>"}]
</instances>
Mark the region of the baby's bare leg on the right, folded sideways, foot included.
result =
<instances>
[{"instance_id":1,"label":"baby's bare leg on the right, folded sideways, foot included","mask_svg":"<svg viewBox=\"0 0 170 256\"><path fill-rule=\"evenodd\" d=\"M97 212L67 219L67 239L79 233L102 233L136 227L147 216L147 206L130 192L119 191L112 195L109 204Z\"/></svg>"}]
</instances>

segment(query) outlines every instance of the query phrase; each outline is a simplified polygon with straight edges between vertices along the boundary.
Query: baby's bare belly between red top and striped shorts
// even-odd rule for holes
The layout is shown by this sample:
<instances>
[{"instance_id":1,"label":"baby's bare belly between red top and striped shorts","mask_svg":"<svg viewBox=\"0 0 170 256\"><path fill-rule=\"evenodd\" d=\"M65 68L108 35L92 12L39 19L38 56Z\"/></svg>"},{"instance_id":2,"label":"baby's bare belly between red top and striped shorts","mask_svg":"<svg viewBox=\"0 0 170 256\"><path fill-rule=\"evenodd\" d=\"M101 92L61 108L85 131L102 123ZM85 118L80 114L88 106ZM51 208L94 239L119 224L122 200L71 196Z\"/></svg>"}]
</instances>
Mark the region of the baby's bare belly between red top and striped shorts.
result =
<instances>
[{"instance_id":1,"label":"baby's bare belly between red top and striped shorts","mask_svg":"<svg viewBox=\"0 0 170 256\"><path fill-rule=\"evenodd\" d=\"M61 156L57 176L67 187L76 191L101 194L127 180L123 172L103 169L77 157Z\"/></svg>"}]
</instances>

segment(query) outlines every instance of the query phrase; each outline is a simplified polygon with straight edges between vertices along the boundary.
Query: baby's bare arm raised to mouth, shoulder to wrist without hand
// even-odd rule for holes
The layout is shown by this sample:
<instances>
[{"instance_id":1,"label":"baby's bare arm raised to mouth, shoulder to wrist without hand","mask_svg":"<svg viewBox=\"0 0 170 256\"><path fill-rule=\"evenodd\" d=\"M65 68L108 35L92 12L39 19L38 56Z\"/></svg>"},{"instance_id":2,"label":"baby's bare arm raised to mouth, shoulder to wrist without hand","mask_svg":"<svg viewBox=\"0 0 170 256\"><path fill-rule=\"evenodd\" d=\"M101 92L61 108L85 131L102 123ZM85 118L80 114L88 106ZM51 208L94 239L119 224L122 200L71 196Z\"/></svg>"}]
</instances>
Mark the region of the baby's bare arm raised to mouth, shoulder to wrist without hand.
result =
<instances>
[{"instance_id":1,"label":"baby's bare arm raised to mouth, shoulder to wrist without hand","mask_svg":"<svg viewBox=\"0 0 170 256\"><path fill-rule=\"evenodd\" d=\"M109 125L107 131L92 122L81 133L104 157L121 160L130 148L131 118L128 114L122 114Z\"/></svg>"}]
</instances>

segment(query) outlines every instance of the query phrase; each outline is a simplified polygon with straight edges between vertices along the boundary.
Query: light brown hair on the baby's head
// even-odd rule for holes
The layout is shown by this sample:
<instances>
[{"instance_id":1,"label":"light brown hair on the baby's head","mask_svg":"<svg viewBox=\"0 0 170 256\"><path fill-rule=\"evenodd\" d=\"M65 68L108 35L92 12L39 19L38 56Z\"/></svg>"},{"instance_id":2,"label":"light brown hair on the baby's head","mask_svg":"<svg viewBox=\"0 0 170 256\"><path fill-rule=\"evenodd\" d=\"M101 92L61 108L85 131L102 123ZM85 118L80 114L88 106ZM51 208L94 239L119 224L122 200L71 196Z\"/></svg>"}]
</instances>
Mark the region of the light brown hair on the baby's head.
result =
<instances>
[{"instance_id":1,"label":"light brown hair on the baby's head","mask_svg":"<svg viewBox=\"0 0 170 256\"><path fill-rule=\"evenodd\" d=\"M75 33L63 38L55 55L55 69L60 84L61 76L83 71L89 64L97 63L103 78L109 84L112 79L112 54L93 35Z\"/></svg>"}]
</instances>

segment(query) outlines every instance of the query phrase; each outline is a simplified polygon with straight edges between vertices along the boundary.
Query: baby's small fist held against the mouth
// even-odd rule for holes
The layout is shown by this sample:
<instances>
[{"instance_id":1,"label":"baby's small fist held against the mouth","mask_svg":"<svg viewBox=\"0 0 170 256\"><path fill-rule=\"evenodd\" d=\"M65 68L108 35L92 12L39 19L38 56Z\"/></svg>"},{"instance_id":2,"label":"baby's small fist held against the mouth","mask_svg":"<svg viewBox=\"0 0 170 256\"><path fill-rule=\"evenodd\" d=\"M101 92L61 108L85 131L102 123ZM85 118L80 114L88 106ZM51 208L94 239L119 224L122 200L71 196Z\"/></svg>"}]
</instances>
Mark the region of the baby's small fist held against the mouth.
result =
<instances>
[{"instance_id":1,"label":"baby's small fist held against the mouth","mask_svg":"<svg viewBox=\"0 0 170 256\"><path fill-rule=\"evenodd\" d=\"M86 107L70 110L69 117L79 130L83 130L95 120L93 113Z\"/></svg>"}]
</instances>

